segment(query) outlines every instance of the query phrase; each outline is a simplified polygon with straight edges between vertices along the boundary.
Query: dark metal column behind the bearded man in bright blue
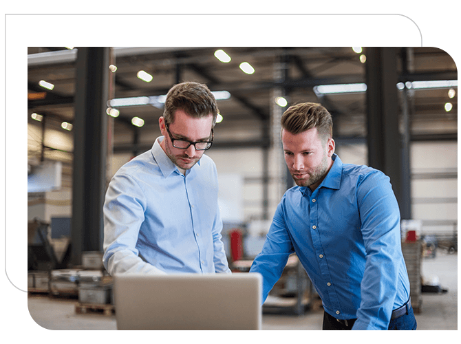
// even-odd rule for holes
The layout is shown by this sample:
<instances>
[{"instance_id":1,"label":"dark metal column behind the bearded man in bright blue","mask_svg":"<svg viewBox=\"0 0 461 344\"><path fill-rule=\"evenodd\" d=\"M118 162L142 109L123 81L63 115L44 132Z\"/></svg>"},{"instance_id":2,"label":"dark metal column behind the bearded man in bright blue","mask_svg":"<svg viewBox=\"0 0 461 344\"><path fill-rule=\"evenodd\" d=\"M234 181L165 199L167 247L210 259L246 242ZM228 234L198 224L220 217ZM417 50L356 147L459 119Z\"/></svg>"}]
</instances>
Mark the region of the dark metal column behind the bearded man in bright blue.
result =
<instances>
[{"instance_id":1,"label":"dark metal column behind the bearded man in bright blue","mask_svg":"<svg viewBox=\"0 0 461 344\"><path fill-rule=\"evenodd\" d=\"M407 213L410 195L403 188L402 133L400 133L397 94L396 49L367 48L367 146L368 164L391 178L400 206L400 215Z\"/></svg>"}]
</instances>

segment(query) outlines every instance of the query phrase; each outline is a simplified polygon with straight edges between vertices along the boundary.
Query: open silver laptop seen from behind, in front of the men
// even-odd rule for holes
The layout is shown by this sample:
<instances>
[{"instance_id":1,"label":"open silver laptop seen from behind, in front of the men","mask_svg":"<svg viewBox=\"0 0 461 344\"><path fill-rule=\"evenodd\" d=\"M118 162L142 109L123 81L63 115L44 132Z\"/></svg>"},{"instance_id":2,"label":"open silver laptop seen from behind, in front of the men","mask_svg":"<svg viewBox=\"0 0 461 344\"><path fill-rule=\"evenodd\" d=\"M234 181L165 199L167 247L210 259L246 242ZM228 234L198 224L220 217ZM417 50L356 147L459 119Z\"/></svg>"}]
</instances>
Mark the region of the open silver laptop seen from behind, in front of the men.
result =
<instances>
[{"instance_id":1,"label":"open silver laptop seen from behind, in front of the men","mask_svg":"<svg viewBox=\"0 0 461 344\"><path fill-rule=\"evenodd\" d=\"M118 330L261 330L258 273L114 276Z\"/></svg>"}]
</instances>

